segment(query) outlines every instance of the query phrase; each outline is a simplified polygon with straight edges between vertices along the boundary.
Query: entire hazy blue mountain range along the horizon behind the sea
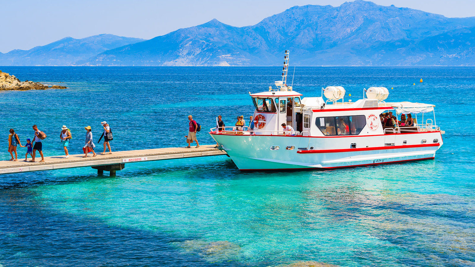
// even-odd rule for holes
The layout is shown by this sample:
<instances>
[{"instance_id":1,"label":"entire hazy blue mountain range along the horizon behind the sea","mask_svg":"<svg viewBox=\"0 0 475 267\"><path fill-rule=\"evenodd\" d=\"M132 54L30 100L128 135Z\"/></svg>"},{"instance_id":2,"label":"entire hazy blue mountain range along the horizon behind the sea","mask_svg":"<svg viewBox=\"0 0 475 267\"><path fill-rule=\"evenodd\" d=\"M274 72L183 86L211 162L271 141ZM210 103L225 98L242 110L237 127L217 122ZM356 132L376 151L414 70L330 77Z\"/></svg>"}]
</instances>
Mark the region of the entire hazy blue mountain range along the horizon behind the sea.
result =
<instances>
[{"instance_id":1,"label":"entire hazy blue mountain range along the horizon behind the sea","mask_svg":"<svg viewBox=\"0 0 475 267\"><path fill-rule=\"evenodd\" d=\"M65 38L13 50L0 54L0 66L276 66L285 49L296 66L475 66L475 17L446 18L362 0L295 6L246 27L213 19L150 40L94 38L70 38L69 49L55 44Z\"/></svg>"}]
</instances>

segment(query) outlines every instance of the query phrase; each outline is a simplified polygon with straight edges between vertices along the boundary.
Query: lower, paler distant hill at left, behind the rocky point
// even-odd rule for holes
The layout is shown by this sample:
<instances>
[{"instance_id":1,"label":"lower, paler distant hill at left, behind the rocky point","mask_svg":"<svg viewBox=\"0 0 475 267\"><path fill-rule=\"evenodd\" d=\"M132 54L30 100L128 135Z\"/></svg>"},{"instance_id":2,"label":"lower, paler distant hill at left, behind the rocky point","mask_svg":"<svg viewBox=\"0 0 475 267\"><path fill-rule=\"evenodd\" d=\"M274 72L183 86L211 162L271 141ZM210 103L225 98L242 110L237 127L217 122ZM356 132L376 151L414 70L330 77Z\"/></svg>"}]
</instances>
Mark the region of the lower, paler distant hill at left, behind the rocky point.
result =
<instances>
[{"instance_id":1,"label":"lower, paler distant hill at left, behind the rocky point","mask_svg":"<svg viewBox=\"0 0 475 267\"><path fill-rule=\"evenodd\" d=\"M69 66L108 49L141 42L140 38L100 34L82 39L66 37L46 46L0 53L0 66Z\"/></svg>"}]
</instances>

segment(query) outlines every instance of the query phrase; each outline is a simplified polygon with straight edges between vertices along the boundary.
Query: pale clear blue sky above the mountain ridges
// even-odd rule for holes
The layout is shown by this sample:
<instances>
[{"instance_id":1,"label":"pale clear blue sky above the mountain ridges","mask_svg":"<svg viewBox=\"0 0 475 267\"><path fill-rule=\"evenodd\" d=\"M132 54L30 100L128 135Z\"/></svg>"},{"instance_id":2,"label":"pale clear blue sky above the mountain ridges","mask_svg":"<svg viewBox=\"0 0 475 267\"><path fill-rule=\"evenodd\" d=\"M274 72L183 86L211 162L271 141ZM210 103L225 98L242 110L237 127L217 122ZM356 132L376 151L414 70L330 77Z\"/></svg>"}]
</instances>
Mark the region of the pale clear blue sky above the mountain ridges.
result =
<instances>
[{"instance_id":1,"label":"pale clear blue sky above the mountain ridges","mask_svg":"<svg viewBox=\"0 0 475 267\"><path fill-rule=\"evenodd\" d=\"M345 0L13 0L2 3L0 52L30 49L70 36L101 33L150 39L211 19L254 25L298 5L339 6ZM474 0L373 0L446 17L474 17Z\"/></svg>"}]
</instances>

